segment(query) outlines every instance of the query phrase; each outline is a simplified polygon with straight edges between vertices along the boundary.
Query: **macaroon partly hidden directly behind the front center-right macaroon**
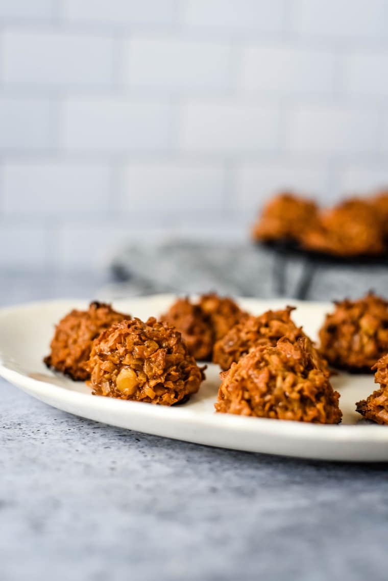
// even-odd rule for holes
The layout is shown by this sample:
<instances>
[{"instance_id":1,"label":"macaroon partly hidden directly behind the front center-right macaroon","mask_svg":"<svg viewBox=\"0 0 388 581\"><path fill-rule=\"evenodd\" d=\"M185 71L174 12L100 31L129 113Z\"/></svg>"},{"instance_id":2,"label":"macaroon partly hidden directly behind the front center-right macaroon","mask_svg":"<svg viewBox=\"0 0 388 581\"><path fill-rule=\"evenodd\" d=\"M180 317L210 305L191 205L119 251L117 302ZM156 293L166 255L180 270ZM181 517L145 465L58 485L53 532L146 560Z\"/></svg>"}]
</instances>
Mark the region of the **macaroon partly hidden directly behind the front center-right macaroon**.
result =
<instances>
[{"instance_id":1,"label":"macaroon partly hidden directly behind the front center-right macaroon","mask_svg":"<svg viewBox=\"0 0 388 581\"><path fill-rule=\"evenodd\" d=\"M275 347L277 341L286 337L291 342L306 337L301 327L291 319L295 307L286 307L278 311L266 311L258 317L250 316L234 325L226 335L216 342L213 350L213 363L218 363L223 370L229 369L233 362L249 353L254 347L270 345ZM307 338L308 339L308 338ZM318 367L328 373L328 363L308 339L311 356Z\"/></svg>"}]
</instances>

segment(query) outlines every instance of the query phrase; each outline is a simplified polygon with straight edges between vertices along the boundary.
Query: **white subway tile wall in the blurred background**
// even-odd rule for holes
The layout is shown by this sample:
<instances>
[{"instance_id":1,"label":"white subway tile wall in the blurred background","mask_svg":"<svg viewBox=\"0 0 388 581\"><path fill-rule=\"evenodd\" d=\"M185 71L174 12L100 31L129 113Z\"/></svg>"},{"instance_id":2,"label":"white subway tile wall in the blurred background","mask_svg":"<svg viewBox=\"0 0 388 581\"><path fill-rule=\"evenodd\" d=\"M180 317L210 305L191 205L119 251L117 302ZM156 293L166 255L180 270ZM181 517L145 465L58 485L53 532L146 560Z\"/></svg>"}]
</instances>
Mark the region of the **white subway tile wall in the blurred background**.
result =
<instances>
[{"instance_id":1,"label":"white subway tile wall in the blurred background","mask_svg":"<svg viewBox=\"0 0 388 581\"><path fill-rule=\"evenodd\" d=\"M2 0L0 266L388 186L386 0Z\"/></svg>"}]
</instances>

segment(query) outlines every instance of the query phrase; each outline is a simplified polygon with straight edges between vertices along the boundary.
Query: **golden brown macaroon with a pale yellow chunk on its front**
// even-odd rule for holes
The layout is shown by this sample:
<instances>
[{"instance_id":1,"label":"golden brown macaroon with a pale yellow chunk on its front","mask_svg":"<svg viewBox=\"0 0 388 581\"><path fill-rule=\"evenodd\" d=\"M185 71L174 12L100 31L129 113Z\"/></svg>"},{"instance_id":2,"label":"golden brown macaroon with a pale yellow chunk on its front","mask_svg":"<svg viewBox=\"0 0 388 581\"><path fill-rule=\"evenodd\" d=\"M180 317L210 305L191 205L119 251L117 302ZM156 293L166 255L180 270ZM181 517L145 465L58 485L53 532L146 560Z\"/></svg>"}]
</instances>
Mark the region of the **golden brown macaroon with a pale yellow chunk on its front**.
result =
<instances>
[{"instance_id":1,"label":"golden brown macaroon with a pale yellow chunk on its front","mask_svg":"<svg viewBox=\"0 0 388 581\"><path fill-rule=\"evenodd\" d=\"M172 406L200 388L204 374L181 335L151 317L116 323L93 343L93 393Z\"/></svg>"}]
</instances>

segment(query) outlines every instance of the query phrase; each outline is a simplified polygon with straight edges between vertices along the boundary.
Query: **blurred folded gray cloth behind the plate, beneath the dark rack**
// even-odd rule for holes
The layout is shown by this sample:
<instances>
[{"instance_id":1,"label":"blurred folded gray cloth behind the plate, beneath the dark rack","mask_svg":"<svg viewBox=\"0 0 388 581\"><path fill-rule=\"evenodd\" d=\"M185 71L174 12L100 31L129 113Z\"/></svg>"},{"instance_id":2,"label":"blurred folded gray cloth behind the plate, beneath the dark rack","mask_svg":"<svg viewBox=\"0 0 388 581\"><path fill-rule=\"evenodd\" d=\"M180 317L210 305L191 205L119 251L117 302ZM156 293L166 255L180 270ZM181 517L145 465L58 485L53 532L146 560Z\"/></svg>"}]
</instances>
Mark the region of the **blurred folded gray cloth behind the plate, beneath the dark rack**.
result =
<instances>
[{"instance_id":1,"label":"blurred folded gray cloth behind the plate, beneath the dark rack","mask_svg":"<svg viewBox=\"0 0 388 581\"><path fill-rule=\"evenodd\" d=\"M358 297L372 289L385 295L388 288L384 266L314 263L249 243L136 244L119 252L111 268L117 282L101 289L101 299L213 290L234 296L332 300Z\"/></svg>"}]
</instances>

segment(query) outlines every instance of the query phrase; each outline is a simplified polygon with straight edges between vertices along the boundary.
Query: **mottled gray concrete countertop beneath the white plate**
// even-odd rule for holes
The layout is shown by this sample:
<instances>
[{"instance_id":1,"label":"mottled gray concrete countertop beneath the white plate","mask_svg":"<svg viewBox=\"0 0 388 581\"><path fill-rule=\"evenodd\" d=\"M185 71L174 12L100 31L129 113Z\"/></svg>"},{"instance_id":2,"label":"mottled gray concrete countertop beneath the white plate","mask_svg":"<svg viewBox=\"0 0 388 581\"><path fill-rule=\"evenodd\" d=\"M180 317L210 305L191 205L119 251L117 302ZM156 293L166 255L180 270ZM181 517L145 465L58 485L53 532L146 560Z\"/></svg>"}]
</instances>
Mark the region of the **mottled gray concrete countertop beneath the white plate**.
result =
<instances>
[{"instance_id":1,"label":"mottled gray concrete countertop beneath the white plate","mask_svg":"<svg viewBox=\"0 0 388 581\"><path fill-rule=\"evenodd\" d=\"M3 274L1 304L90 296ZM387 579L388 466L239 453L74 417L0 381L0 579Z\"/></svg>"}]
</instances>

